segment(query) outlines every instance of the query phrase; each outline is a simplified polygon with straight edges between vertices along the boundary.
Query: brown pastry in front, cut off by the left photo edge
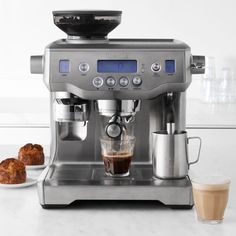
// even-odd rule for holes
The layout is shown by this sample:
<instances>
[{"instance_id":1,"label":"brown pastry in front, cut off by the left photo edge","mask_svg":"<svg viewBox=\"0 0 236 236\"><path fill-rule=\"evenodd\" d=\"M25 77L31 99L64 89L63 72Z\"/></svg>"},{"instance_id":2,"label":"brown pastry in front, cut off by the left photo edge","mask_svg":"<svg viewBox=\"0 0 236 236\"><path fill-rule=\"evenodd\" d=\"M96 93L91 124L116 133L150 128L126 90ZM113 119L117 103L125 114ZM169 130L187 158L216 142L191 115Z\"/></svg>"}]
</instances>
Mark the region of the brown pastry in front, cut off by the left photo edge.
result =
<instances>
[{"instance_id":1,"label":"brown pastry in front, cut off by the left photo edge","mask_svg":"<svg viewBox=\"0 0 236 236\"><path fill-rule=\"evenodd\" d=\"M1 184L21 184L26 181L25 165L15 158L7 158L0 163Z\"/></svg>"}]
</instances>

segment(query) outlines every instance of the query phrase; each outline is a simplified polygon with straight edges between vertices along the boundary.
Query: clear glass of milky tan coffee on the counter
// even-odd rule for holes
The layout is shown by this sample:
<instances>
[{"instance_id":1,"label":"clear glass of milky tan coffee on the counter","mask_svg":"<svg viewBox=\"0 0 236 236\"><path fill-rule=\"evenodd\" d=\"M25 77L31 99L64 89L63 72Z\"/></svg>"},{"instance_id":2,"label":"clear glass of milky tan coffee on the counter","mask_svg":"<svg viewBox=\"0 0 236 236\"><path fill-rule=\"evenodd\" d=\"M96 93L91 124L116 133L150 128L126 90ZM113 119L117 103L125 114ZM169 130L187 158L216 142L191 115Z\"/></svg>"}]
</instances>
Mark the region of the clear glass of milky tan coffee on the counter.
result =
<instances>
[{"instance_id":1,"label":"clear glass of milky tan coffee on the counter","mask_svg":"<svg viewBox=\"0 0 236 236\"><path fill-rule=\"evenodd\" d=\"M230 180L224 176L202 176L192 179L193 198L200 222L217 224L224 218Z\"/></svg>"}]
</instances>

